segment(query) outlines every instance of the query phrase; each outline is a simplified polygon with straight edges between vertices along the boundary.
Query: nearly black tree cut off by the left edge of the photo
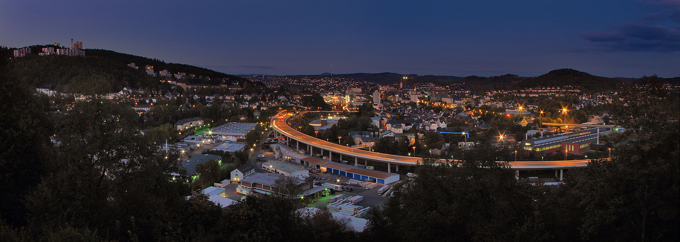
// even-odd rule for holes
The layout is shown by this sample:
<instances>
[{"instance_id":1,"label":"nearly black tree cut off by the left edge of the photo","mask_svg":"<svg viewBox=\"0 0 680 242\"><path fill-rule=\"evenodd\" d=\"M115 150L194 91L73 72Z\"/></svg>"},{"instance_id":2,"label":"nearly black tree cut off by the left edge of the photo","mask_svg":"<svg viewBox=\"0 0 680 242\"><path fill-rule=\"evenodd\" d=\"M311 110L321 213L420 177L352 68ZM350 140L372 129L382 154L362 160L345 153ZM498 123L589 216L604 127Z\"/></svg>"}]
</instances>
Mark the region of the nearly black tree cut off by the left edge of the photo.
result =
<instances>
[{"instance_id":1,"label":"nearly black tree cut off by the left edge of the photo","mask_svg":"<svg viewBox=\"0 0 680 242\"><path fill-rule=\"evenodd\" d=\"M0 217L10 224L27 221L22 199L47 172L53 133L44 96L33 93L0 65Z\"/></svg>"}]
</instances>

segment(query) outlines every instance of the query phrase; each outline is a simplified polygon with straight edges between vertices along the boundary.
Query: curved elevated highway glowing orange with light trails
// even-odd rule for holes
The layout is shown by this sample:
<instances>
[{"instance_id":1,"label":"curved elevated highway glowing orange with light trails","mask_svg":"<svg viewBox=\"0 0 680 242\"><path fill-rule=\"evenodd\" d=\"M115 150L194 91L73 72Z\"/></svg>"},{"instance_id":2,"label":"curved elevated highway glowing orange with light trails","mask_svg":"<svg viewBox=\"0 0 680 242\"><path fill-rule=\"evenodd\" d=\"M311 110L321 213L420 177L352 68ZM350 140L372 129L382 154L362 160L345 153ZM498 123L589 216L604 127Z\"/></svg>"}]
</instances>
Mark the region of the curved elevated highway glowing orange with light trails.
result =
<instances>
[{"instance_id":1,"label":"curved elevated highway glowing orange with light trails","mask_svg":"<svg viewBox=\"0 0 680 242\"><path fill-rule=\"evenodd\" d=\"M307 136L302 132L293 129L286 123L286 119L291 115L277 115L271 119L271 127L288 138L302 142L303 144L330 150L333 153L342 155L349 155L350 157L358 157L360 159L367 159L371 161L381 161L386 163L398 165L416 165L422 162L420 157L403 157L401 155L389 155L384 153L376 153L367 150L354 149L351 147L335 144L326 140L320 140ZM565 169L565 168L582 168L588 166L590 160L571 160L571 161L510 161L511 169Z\"/></svg>"}]
</instances>

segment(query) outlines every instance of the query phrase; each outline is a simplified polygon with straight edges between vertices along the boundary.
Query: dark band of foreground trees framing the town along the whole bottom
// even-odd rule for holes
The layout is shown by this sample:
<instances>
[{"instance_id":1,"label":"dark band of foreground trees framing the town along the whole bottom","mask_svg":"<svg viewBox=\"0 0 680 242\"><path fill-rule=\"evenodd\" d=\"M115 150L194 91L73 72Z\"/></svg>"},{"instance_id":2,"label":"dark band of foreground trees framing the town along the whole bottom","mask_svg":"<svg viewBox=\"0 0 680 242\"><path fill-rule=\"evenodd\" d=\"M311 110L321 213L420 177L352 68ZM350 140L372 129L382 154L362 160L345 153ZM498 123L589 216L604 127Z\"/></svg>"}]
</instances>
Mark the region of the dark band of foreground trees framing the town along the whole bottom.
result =
<instances>
[{"instance_id":1,"label":"dark band of foreground trees framing the town along the whole bottom","mask_svg":"<svg viewBox=\"0 0 680 242\"><path fill-rule=\"evenodd\" d=\"M1 241L680 237L679 96L656 77L625 85L613 104L612 118L626 132L603 140L613 148L611 161L569 170L562 186L532 186L495 162L507 154L486 145L466 151L461 161L425 159L415 168L418 177L400 184L357 233L328 211L303 213L300 199L290 197L249 197L221 209L184 178L173 179L183 172L177 154L141 135L143 121L131 108L92 98L51 112L48 97L35 94L27 83L33 80L14 71L14 60L7 62L0 60Z\"/></svg>"}]
</instances>

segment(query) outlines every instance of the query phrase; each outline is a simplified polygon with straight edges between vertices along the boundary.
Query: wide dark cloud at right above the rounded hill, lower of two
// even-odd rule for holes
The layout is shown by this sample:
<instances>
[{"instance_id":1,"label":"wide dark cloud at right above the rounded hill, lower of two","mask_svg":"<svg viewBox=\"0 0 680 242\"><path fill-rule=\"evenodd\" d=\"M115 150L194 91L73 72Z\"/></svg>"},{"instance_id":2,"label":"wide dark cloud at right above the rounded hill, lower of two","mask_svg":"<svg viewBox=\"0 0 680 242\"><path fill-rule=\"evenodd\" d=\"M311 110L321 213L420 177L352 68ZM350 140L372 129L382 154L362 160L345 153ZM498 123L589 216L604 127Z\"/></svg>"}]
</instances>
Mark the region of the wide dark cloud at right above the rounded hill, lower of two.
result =
<instances>
[{"instance_id":1,"label":"wide dark cloud at right above the rounded hill, lower of two","mask_svg":"<svg viewBox=\"0 0 680 242\"><path fill-rule=\"evenodd\" d=\"M588 32L581 37L608 51L680 51L680 31L661 25L617 24L616 32Z\"/></svg>"}]
</instances>

